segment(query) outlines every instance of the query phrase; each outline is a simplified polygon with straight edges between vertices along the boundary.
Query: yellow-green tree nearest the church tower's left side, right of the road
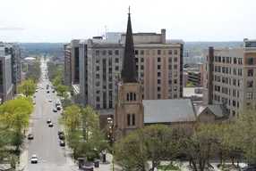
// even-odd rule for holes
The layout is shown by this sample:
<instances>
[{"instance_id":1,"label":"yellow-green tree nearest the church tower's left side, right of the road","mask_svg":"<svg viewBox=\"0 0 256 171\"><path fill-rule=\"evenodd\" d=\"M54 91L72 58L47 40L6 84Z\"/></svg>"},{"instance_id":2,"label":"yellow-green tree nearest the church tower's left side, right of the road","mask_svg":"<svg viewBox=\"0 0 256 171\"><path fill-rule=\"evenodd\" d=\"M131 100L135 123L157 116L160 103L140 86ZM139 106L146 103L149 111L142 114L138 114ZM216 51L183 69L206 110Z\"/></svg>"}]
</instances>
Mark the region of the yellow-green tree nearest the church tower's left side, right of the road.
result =
<instances>
[{"instance_id":1,"label":"yellow-green tree nearest the church tower's left side, right of the road","mask_svg":"<svg viewBox=\"0 0 256 171\"><path fill-rule=\"evenodd\" d=\"M81 109L81 127L83 130L82 135L85 140L89 139L89 135L94 129L98 129L98 114L90 105Z\"/></svg>"}]
</instances>

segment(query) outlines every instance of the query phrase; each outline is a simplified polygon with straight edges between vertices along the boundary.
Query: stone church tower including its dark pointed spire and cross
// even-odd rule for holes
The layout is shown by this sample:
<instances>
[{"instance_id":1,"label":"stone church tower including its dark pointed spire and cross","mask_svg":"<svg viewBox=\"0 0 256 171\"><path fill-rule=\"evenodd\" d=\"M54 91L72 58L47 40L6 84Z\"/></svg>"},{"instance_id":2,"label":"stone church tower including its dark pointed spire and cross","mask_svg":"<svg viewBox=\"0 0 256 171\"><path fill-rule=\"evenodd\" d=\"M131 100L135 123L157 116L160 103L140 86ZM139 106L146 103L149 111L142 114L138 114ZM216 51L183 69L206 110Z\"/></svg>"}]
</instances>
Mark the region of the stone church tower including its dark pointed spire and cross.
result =
<instances>
[{"instance_id":1,"label":"stone church tower including its dark pointed spire and cross","mask_svg":"<svg viewBox=\"0 0 256 171\"><path fill-rule=\"evenodd\" d=\"M144 126L144 107L141 90L136 69L129 7L121 83L117 88L117 101L115 104L115 141Z\"/></svg>"}]
</instances>

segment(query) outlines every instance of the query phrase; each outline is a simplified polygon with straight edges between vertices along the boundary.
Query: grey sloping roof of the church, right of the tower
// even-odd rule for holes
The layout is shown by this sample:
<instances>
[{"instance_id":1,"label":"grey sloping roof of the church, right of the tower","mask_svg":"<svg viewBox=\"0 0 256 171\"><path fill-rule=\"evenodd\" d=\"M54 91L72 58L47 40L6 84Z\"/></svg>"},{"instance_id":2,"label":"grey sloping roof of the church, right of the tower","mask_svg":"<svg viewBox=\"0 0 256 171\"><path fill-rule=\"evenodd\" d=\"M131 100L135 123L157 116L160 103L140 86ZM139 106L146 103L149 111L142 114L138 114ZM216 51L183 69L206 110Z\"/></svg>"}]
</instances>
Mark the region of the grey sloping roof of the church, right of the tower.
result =
<instances>
[{"instance_id":1,"label":"grey sloping roof of the church, right of the tower","mask_svg":"<svg viewBox=\"0 0 256 171\"><path fill-rule=\"evenodd\" d=\"M191 99L144 100L144 123L194 121Z\"/></svg>"}]
</instances>

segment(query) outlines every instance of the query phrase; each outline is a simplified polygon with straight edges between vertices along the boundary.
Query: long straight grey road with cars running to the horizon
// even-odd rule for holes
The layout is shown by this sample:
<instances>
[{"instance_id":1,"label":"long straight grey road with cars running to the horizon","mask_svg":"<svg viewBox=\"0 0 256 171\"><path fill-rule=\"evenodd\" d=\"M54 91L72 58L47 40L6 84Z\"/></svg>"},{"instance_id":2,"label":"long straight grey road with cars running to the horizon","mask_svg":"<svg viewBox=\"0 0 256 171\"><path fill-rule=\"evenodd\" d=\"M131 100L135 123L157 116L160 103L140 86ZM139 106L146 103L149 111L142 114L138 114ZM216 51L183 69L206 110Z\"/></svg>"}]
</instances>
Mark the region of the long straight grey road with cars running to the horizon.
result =
<instances>
[{"instance_id":1,"label":"long straight grey road with cars running to the horizon","mask_svg":"<svg viewBox=\"0 0 256 171\"><path fill-rule=\"evenodd\" d=\"M44 61L41 64L42 72L47 69L47 63ZM46 74L46 73L45 73ZM43 75L45 75L43 74ZM31 133L34 134L34 139L29 141L28 160L26 164L27 171L65 171L75 170L69 165L68 157L66 156L66 148L60 147L57 132L61 130L58 124L58 118L61 116L61 111L53 112L55 101L59 99L55 93L52 93L49 81L43 76L41 87L36 93L35 111L31 114ZM47 85L50 93L47 94ZM49 102L49 100L52 102ZM53 127L48 127L47 119L51 119ZM38 164L31 164L30 158L33 154L38 156Z\"/></svg>"}]
</instances>

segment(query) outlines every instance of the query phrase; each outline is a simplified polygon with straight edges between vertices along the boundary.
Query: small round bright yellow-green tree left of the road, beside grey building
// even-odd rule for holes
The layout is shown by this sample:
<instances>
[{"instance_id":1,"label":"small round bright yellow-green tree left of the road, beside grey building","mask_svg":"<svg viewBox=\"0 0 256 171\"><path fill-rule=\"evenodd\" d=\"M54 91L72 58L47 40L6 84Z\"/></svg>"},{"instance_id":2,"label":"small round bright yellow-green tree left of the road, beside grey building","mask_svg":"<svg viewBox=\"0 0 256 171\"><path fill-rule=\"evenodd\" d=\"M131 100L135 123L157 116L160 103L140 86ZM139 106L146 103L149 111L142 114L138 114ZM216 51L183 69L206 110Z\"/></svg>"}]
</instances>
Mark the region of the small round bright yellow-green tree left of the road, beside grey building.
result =
<instances>
[{"instance_id":1,"label":"small round bright yellow-green tree left of the road, beside grey building","mask_svg":"<svg viewBox=\"0 0 256 171\"><path fill-rule=\"evenodd\" d=\"M37 87L32 79L25 80L18 85L18 93L24 94L26 97L35 94L36 89Z\"/></svg>"}]
</instances>

